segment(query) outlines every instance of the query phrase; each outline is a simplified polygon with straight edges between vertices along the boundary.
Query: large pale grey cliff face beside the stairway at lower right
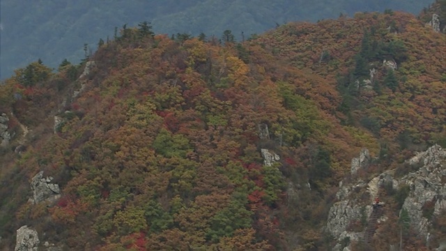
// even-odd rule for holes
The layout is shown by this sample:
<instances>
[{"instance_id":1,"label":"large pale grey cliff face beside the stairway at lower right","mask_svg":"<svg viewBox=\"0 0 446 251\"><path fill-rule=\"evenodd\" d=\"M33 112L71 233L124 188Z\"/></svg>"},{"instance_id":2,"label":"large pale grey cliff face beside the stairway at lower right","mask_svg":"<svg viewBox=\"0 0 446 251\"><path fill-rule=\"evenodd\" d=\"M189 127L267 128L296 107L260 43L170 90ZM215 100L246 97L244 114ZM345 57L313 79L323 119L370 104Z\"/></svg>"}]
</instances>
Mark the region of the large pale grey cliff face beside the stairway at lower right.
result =
<instances>
[{"instance_id":1,"label":"large pale grey cliff face beside the stairway at lower right","mask_svg":"<svg viewBox=\"0 0 446 251\"><path fill-rule=\"evenodd\" d=\"M330 208L327 230L341 243L345 238L362 243L363 231L367 227L371 215L373 199L379 194L385 194L389 201L383 201L385 215L378 220L383 225L394 225L399 220L410 225L404 226L415 231L422 241L430 248L439 248L438 243L445 241L444 234L438 234L433 227L435 220L446 211L446 150L440 146L431 146L426 151L417 153L406 160L404 166L408 174L397 177L395 170L389 170L364 181L340 183L337 201ZM401 172L401 169L399 170ZM395 207L392 191L397 192L397 199L401 205ZM381 198L383 200L383 198ZM365 203L364 203L365 202ZM387 203L388 202L388 203ZM402 202L402 203L401 203ZM387 204L386 204L387 203ZM389 215L399 215L399 219ZM356 229L352 226L360 222ZM377 235L383 227L378 227ZM435 234L434 234L435 233ZM381 233L382 234L382 233ZM388 243L397 245L397 243ZM335 250L344 248L337 244ZM440 250L440 249L439 249Z\"/></svg>"}]
</instances>

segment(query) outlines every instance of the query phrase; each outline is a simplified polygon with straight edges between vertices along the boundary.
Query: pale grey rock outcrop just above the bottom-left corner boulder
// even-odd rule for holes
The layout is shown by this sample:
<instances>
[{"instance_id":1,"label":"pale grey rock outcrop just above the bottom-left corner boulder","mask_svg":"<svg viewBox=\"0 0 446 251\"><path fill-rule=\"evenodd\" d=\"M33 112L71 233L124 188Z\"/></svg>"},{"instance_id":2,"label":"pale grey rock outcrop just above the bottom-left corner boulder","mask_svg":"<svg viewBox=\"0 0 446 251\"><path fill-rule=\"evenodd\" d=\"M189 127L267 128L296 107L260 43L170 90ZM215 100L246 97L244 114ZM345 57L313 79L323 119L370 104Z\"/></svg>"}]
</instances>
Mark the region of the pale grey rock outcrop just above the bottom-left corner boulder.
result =
<instances>
[{"instance_id":1,"label":"pale grey rock outcrop just above the bottom-left corner boulder","mask_svg":"<svg viewBox=\"0 0 446 251\"><path fill-rule=\"evenodd\" d=\"M61 197L61 190L58 184L52 183L52 176L43 177L43 171L40 171L31 181L31 190L33 198L31 201L37 204L41 201L55 201Z\"/></svg>"}]
</instances>

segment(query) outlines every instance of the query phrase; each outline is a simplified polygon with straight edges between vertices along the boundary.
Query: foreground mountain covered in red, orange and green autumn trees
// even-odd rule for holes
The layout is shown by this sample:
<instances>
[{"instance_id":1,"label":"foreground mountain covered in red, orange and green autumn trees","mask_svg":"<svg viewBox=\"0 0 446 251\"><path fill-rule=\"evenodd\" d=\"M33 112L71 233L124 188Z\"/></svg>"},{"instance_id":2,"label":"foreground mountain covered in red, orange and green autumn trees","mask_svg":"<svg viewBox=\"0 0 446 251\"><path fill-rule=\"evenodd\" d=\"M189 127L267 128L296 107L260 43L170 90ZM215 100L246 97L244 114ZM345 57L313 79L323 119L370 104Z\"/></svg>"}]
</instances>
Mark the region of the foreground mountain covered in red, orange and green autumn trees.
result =
<instances>
[{"instance_id":1,"label":"foreground mountain covered in red, orange and green autumn trees","mask_svg":"<svg viewBox=\"0 0 446 251\"><path fill-rule=\"evenodd\" d=\"M30 63L0 86L0 247L354 248L378 195L376 250L399 245L401 226L405 250L437 248L445 38L392 10L241 43L143 22L57 73Z\"/></svg>"}]
</instances>

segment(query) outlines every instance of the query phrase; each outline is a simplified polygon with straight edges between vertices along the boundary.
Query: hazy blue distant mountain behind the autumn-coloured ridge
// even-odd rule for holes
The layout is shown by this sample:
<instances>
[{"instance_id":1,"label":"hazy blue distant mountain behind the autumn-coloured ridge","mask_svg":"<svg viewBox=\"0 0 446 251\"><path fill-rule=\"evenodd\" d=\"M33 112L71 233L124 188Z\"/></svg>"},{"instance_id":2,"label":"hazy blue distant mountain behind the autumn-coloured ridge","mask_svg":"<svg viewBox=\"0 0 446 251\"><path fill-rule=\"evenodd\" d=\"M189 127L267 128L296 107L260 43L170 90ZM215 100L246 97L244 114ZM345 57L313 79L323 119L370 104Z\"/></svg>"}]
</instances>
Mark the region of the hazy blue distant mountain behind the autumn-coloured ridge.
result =
<instances>
[{"instance_id":1,"label":"hazy blue distant mountain behind the autumn-coloured ridge","mask_svg":"<svg viewBox=\"0 0 446 251\"><path fill-rule=\"evenodd\" d=\"M0 79L13 70L42 59L57 68L61 59L78 63L84 44L95 50L98 40L112 39L114 27L152 22L157 33L206 33L220 38L229 29L240 40L276 24L295 20L334 18L339 13L383 11L385 8L417 13L431 3L423 1L50 1L2 0L0 3Z\"/></svg>"}]
</instances>

